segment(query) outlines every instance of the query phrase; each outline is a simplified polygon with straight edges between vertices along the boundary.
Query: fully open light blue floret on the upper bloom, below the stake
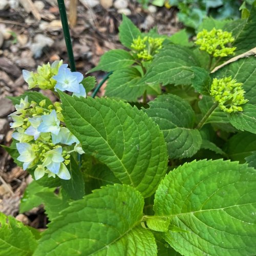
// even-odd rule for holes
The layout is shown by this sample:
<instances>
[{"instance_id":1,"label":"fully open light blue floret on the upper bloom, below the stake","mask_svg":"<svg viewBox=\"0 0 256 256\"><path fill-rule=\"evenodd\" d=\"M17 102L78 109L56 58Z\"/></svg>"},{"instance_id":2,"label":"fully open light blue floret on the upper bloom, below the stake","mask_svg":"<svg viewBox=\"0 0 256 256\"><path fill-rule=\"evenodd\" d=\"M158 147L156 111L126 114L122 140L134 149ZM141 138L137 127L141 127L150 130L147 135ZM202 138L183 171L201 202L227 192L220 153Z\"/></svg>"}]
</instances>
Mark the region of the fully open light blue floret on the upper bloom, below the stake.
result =
<instances>
[{"instance_id":1,"label":"fully open light blue floret on the upper bloom, below the stake","mask_svg":"<svg viewBox=\"0 0 256 256\"><path fill-rule=\"evenodd\" d=\"M73 93L80 93L79 83L83 79L83 75L79 72L71 72L66 65L61 65L58 74L52 77L57 81L55 91L69 91Z\"/></svg>"}]
</instances>

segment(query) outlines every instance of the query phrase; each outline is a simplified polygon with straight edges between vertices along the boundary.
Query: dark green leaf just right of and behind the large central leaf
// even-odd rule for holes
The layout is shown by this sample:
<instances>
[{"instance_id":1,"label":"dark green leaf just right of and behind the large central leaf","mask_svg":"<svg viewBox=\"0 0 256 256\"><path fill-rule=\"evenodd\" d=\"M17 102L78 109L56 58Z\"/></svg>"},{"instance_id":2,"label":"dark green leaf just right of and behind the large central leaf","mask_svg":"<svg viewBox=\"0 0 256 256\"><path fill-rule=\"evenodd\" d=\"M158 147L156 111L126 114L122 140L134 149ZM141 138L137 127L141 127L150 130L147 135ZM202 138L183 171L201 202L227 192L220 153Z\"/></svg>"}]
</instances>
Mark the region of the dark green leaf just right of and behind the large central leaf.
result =
<instances>
[{"instance_id":1,"label":"dark green leaf just right of and behind the large central leaf","mask_svg":"<svg viewBox=\"0 0 256 256\"><path fill-rule=\"evenodd\" d=\"M193 129L195 113L182 98L163 94L148 103L145 112L156 122L167 142L170 158L191 157L201 146L201 135Z\"/></svg>"}]
</instances>

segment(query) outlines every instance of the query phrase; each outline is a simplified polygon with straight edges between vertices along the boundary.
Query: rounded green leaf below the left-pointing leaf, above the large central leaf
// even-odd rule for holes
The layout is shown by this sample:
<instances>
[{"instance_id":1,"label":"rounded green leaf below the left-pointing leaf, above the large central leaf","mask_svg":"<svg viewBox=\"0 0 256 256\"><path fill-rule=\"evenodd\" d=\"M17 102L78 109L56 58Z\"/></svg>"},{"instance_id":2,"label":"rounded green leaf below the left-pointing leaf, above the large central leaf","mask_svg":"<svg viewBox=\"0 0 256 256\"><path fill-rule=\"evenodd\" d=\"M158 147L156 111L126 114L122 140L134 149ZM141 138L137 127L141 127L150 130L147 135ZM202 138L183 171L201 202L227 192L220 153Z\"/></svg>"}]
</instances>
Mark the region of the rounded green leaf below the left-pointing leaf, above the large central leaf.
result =
<instances>
[{"instance_id":1,"label":"rounded green leaf below the left-pointing leaf, above the large central leaf","mask_svg":"<svg viewBox=\"0 0 256 256\"><path fill-rule=\"evenodd\" d=\"M118 70L110 76L105 95L132 102L137 101L145 91L145 86L133 87L140 79L141 74L136 68Z\"/></svg>"}]
</instances>

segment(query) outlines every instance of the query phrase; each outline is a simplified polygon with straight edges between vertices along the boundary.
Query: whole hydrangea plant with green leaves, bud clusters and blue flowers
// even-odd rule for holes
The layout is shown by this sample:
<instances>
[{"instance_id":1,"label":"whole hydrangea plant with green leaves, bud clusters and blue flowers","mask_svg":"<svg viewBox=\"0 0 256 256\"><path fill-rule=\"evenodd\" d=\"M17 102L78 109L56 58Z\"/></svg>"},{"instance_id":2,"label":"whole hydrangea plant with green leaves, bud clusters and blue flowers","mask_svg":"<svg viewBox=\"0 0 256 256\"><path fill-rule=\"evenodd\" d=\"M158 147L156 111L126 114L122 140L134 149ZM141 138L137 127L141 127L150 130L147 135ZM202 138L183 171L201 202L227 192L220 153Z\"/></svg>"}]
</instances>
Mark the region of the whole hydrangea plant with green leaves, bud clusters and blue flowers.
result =
<instances>
[{"instance_id":1,"label":"whole hydrangea plant with green leaves, bud clusters and blue flowers","mask_svg":"<svg viewBox=\"0 0 256 256\"><path fill-rule=\"evenodd\" d=\"M11 97L5 148L35 179L20 212L42 203L49 224L39 233L0 214L1 253L256 254L255 14L226 30L206 24L194 43L185 31L141 33L123 16L126 50L89 71L113 72L106 97L91 97L95 78L62 61L24 71L57 100Z\"/></svg>"}]
</instances>

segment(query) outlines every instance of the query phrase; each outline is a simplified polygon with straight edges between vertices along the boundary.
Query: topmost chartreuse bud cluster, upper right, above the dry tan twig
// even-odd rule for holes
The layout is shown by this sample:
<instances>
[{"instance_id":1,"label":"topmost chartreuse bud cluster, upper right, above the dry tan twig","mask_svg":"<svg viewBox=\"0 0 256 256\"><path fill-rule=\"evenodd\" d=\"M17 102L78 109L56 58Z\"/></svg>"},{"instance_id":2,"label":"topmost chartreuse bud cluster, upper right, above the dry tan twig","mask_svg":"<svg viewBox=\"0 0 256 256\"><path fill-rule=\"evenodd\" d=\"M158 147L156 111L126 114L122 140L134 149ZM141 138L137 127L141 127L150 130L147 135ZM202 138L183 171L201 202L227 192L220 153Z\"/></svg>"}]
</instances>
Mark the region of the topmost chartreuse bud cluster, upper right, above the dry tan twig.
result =
<instances>
[{"instance_id":1,"label":"topmost chartreuse bud cluster, upper right, above the dry tan twig","mask_svg":"<svg viewBox=\"0 0 256 256\"><path fill-rule=\"evenodd\" d=\"M232 33L214 28L211 31L203 29L199 32L195 43L200 45L200 50L214 57L225 57L236 50L236 47L227 47L233 41Z\"/></svg>"}]
</instances>

